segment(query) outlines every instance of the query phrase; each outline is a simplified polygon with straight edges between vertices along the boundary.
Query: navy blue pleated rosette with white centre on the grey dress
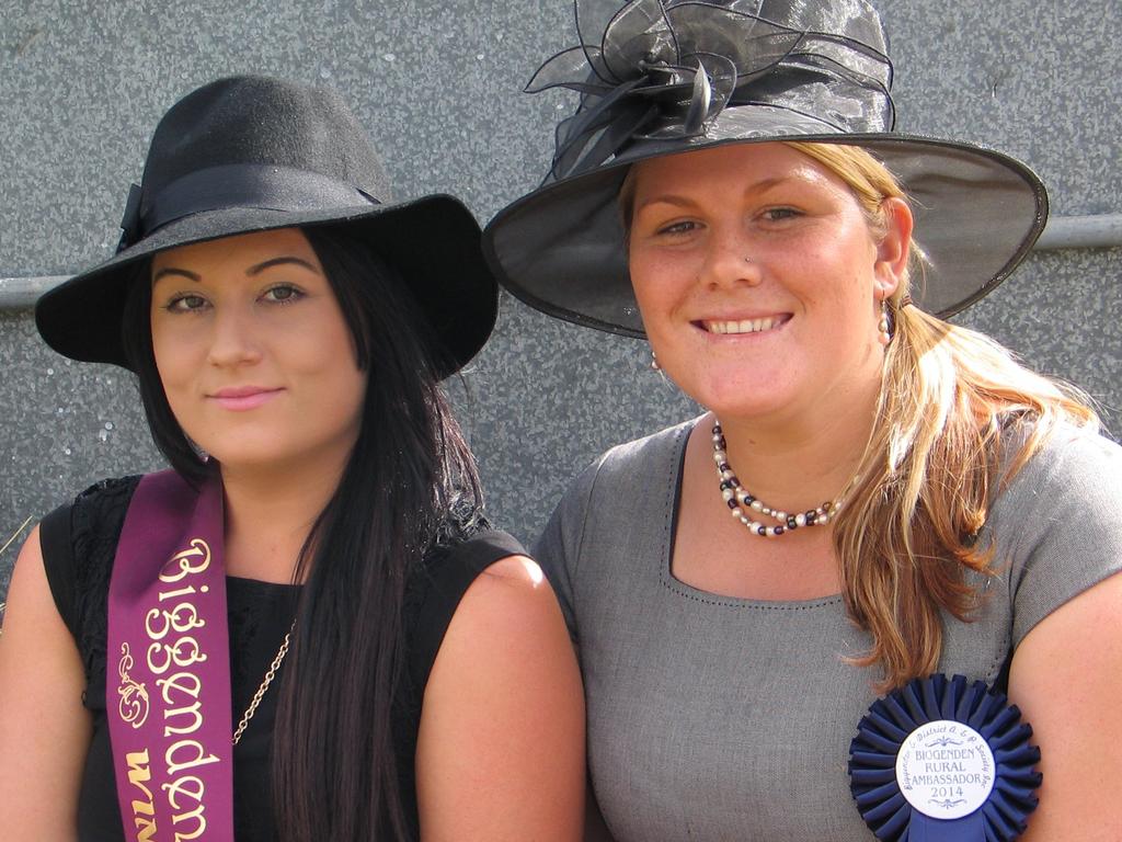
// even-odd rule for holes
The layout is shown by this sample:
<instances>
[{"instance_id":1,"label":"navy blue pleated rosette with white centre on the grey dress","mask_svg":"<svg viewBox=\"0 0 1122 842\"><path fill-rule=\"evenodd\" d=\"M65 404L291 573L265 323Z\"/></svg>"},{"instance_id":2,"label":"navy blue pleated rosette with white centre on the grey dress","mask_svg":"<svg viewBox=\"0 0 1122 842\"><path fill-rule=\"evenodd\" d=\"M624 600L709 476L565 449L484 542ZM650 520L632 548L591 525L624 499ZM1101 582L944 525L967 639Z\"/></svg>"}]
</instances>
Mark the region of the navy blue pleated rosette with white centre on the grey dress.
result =
<instances>
[{"instance_id":1,"label":"navy blue pleated rosette with white centre on the grey dress","mask_svg":"<svg viewBox=\"0 0 1122 842\"><path fill-rule=\"evenodd\" d=\"M1006 842L1036 809L1040 749L1003 694L963 676L877 699L849 744L849 788L889 842Z\"/></svg>"}]
</instances>

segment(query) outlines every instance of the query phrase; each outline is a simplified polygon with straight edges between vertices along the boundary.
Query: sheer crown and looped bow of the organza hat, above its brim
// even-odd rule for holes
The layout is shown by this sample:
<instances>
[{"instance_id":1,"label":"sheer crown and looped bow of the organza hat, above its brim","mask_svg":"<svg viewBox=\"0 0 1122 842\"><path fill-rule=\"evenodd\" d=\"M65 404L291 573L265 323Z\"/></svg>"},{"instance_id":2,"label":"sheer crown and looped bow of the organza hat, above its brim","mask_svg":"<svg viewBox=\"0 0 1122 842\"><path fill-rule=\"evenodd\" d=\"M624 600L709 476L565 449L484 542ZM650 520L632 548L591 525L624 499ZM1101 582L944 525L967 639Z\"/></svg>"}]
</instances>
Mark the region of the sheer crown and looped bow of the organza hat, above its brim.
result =
<instances>
[{"instance_id":1,"label":"sheer crown and looped bow of the organza hat, above its brim","mask_svg":"<svg viewBox=\"0 0 1122 842\"><path fill-rule=\"evenodd\" d=\"M526 85L582 94L558 126L546 182L595 170L636 140L703 135L729 106L787 109L827 134L892 130L892 63L876 12L861 0L574 6L581 44Z\"/></svg>"}]
</instances>

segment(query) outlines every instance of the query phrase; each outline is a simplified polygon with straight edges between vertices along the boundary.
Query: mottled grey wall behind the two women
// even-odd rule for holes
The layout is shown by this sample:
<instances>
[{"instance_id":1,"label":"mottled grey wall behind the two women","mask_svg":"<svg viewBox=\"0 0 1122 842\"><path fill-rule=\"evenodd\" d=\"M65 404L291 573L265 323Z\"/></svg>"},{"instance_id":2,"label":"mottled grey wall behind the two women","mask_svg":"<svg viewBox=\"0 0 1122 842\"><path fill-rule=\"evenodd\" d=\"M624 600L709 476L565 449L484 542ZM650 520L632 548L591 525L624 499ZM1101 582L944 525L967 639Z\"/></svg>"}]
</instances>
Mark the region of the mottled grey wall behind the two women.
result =
<instances>
[{"instance_id":1,"label":"mottled grey wall behind the two women","mask_svg":"<svg viewBox=\"0 0 1122 842\"><path fill-rule=\"evenodd\" d=\"M1122 211L1116 0L877 6L898 128L1028 161L1054 213ZM540 180L572 107L519 93L573 43L571 20L564 0L0 0L0 277L109 255L156 120L236 72L335 85L401 195L449 191L485 221ZM1034 255L959 321L1122 421L1122 249ZM640 342L504 299L495 338L453 384L499 522L533 538L597 452L692 411L646 361ZM98 477L158 465L128 376L52 354L27 311L0 312L0 544ZM0 555L0 595L15 552Z\"/></svg>"}]
</instances>

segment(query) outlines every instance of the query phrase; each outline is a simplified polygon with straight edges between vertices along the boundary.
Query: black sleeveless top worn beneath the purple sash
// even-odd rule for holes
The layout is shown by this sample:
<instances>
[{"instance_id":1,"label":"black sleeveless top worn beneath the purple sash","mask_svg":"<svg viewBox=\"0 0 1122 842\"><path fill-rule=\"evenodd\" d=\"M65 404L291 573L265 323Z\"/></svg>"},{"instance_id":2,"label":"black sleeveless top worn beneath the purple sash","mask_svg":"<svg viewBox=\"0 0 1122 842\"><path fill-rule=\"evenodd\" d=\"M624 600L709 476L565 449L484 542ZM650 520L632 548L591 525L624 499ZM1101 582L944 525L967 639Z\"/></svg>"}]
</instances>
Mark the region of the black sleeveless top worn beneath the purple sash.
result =
<instances>
[{"instance_id":1,"label":"black sleeveless top worn beneath the purple sash","mask_svg":"<svg viewBox=\"0 0 1122 842\"><path fill-rule=\"evenodd\" d=\"M77 643L85 669L82 702L93 714L93 741L79 800L82 842L123 842L117 784L105 720L105 646L109 579L117 540L139 477L108 479L80 494L72 505L47 515L39 529L50 591ZM405 600L410 676L395 705L395 751L402 769L406 811L416 815L413 756L421 699L448 624L476 575L505 556L523 553L518 542L490 529L431 553L413 576ZM276 657L296 614L300 587L227 577L233 722L252 697ZM282 667L283 670L283 667ZM239 842L276 836L269 753L277 694L266 693L233 752L234 833Z\"/></svg>"}]
</instances>

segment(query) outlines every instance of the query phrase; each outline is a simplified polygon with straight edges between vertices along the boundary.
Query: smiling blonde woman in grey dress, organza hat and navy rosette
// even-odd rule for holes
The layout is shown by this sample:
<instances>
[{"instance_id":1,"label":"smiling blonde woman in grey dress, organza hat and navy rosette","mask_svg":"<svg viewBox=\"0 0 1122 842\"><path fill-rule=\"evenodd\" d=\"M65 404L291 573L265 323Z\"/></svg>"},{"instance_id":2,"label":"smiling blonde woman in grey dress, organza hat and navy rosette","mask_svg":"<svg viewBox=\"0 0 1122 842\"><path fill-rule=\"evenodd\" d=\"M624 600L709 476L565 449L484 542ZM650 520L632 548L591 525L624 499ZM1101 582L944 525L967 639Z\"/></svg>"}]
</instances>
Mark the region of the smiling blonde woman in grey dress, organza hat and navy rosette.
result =
<instances>
[{"instance_id":1,"label":"smiling blonde woman in grey dress, organza hat and navy rosette","mask_svg":"<svg viewBox=\"0 0 1122 842\"><path fill-rule=\"evenodd\" d=\"M530 90L580 106L485 248L530 305L645 337L707 410L605 454L537 546L607 827L1122 836L1122 451L945 321L1028 253L1039 180L892 132L864 2L577 19Z\"/></svg>"}]
</instances>

